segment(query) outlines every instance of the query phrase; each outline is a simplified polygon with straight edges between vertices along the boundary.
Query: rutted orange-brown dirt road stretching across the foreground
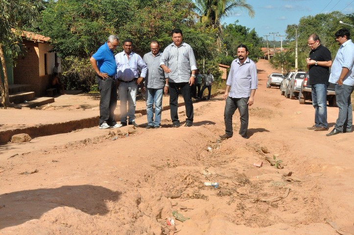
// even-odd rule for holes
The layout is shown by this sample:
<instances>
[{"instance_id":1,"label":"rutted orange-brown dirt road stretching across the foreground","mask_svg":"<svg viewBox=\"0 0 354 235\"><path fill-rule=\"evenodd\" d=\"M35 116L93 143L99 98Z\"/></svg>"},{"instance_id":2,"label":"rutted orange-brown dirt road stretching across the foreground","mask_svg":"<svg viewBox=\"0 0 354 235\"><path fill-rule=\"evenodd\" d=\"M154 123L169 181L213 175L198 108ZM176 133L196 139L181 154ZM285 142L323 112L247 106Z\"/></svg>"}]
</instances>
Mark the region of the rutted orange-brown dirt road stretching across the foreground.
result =
<instances>
[{"instance_id":1,"label":"rutted orange-brown dirt road stretching across the foreground","mask_svg":"<svg viewBox=\"0 0 354 235\"><path fill-rule=\"evenodd\" d=\"M248 140L236 111L234 137L218 143L219 95L194 105L193 127L171 128L165 111L160 129L89 128L0 158L0 234L353 235L354 133L307 130L313 107L266 89L273 70L257 67ZM330 129L337 114L328 108ZM283 169L265 160L273 156ZM167 225L173 211L189 219Z\"/></svg>"}]
</instances>

